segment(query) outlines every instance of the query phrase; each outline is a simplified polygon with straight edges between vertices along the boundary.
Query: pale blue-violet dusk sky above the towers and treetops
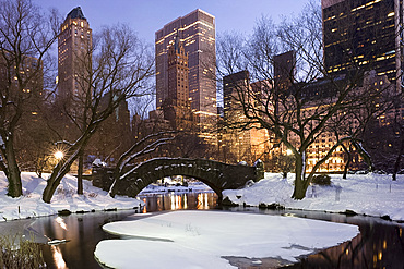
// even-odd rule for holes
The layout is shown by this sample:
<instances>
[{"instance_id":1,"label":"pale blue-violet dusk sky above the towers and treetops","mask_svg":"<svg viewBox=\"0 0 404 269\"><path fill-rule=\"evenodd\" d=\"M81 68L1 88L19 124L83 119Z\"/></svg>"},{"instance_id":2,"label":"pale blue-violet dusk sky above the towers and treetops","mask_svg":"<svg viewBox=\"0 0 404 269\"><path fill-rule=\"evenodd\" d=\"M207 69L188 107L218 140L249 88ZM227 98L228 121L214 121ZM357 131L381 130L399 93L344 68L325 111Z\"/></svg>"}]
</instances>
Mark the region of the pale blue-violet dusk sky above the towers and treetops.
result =
<instances>
[{"instance_id":1,"label":"pale blue-violet dusk sky above the towers and treetops","mask_svg":"<svg viewBox=\"0 0 404 269\"><path fill-rule=\"evenodd\" d=\"M320 1L320 0L319 0ZM148 44L154 33L170 21L201 9L216 17L216 34L237 30L251 34L256 21L269 15L298 14L308 0L33 0L45 10L57 8L66 15L81 7L93 32L102 25L127 23Z\"/></svg>"}]
</instances>

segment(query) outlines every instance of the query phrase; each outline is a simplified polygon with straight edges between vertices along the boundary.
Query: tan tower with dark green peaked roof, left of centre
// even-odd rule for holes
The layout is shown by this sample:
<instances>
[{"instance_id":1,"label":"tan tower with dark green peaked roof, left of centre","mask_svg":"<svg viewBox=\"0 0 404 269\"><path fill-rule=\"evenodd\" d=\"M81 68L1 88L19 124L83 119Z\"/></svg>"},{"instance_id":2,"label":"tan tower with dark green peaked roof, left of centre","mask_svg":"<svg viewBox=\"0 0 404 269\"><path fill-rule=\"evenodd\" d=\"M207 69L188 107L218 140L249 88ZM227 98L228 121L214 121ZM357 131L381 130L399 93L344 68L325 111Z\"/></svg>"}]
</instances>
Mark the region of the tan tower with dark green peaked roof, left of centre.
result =
<instances>
[{"instance_id":1,"label":"tan tower with dark green peaked roof, left of centre","mask_svg":"<svg viewBox=\"0 0 404 269\"><path fill-rule=\"evenodd\" d=\"M66 99L78 99L85 82L84 69L91 66L90 48L92 29L80 7L67 15L60 26L58 38L58 96ZM87 62L85 62L87 60ZM87 64L87 66L85 66Z\"/></svg>"}]
</instances>

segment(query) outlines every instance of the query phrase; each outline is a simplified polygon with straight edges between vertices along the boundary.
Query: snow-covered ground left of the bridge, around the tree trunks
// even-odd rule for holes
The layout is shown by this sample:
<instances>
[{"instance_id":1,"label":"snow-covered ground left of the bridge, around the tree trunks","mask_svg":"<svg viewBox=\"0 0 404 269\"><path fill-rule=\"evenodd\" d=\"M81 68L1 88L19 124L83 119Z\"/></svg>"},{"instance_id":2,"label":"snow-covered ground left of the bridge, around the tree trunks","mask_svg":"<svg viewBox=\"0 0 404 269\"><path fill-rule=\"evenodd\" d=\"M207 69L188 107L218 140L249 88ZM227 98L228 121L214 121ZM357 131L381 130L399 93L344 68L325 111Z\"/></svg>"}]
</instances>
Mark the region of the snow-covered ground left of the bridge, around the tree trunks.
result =
<instances>
[{"instance_id":1,"label":"snow-covered ground left of the bridge, around the tree trunks","mask_svg":"<svg viewBox=\"0 0 404 269\"><path fill-rule=\"evenodd\" d=\"M47 179L47 175L43 175ZM78 180L72 175L66 175L57 188L51 203L41 200L41 193L46 186L46 180L35 173L23 172L21 174L23 196L11 198L7 196L8 181L4 173L0 172L0 221L25 219L40 216L56 215L59 210L92 211L106 209L132 209L143 201L134 198L111 198L107 192L94 187L90 181L83 181L84 195L76 194Z\"/></svg>"}]
</instances>

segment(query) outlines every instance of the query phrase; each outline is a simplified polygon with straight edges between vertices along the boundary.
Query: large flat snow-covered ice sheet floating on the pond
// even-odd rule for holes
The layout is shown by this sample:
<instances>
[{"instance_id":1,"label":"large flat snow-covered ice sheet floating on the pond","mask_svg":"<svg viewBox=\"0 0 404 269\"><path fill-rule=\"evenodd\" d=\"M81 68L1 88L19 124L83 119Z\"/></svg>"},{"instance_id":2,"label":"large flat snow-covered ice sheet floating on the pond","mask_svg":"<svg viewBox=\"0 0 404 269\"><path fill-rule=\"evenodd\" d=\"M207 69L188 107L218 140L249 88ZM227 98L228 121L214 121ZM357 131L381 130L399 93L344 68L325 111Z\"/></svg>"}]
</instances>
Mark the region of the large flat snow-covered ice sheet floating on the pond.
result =
<instances>
[{"instance_id":1,"label":"large flat snow-covered ice sheet floating on the pond","mask_svg":"<svg viewBox=\"0 0 404 269\"><path fill-rule=\"evenodd\" d=\"M98 243L95 256L112 268L234 268L223 257L296 257L358 234L356 225L224 211L173 211L105 224L126 240Z\"/></svg>"}]
</instances>

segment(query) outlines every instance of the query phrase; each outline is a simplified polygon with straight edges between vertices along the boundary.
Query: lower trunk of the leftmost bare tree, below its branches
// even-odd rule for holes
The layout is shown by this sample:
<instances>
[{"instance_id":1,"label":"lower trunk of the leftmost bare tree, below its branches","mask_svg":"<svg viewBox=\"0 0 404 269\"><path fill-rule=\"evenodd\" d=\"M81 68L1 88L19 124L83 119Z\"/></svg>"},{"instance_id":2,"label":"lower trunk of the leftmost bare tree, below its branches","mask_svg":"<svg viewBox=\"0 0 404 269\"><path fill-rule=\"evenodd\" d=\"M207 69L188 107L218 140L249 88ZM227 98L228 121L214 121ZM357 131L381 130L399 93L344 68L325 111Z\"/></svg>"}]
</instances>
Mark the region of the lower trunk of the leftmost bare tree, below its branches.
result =
<instances>
[{"instance_id":1,"label":"lower trunk of the leftmost bare tree, below its branches","mask_svg":"<svg viewBox=\"0 0 404 269\"><path fill-rule=\"evenodd\" d=\"M15 198L23 195L23 187L21 183L21 172L16 163L14 146L10 138L5 142L5 159L7 159L7 176L9 181L8 195Z\"/></svg>"}]
</instances>

